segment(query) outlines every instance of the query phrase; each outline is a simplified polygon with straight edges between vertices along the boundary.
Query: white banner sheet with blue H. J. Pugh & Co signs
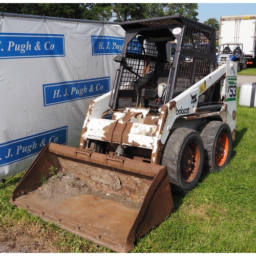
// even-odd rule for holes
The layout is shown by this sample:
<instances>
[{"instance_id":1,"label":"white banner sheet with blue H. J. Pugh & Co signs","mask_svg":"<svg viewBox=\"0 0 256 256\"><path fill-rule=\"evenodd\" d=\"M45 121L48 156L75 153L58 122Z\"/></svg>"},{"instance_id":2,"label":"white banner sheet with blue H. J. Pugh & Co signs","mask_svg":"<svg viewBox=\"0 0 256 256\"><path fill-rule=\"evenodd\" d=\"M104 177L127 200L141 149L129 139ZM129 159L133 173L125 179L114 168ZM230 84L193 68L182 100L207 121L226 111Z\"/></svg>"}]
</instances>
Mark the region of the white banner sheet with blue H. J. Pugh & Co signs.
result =
<instances>
[{"instance_id":1,"label":"white banner sheet with blue H. J. Pugh & Co signs","mask_svg":"<svg viewBox=\"0 0 256 256\"><path fill-rule=\"evenodd\" d=\"M49 142L79 147L123 40L118 25L0 18L0 179L26 170Z\"/></svg>"}]
</instances>

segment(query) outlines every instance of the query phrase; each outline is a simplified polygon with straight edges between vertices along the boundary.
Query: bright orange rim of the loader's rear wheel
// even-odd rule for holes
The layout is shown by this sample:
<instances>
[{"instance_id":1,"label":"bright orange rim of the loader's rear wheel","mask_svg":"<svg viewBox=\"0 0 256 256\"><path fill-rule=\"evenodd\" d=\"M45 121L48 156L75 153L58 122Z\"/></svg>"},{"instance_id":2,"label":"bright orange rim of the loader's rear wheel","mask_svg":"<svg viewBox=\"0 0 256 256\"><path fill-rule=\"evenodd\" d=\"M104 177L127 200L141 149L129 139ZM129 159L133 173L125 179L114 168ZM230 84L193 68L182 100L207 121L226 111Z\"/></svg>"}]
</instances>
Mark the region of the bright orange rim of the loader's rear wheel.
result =
<instances>
[{"instance_id":1,"label":"bright orange rim of the loader's rear wheel","mask_svg":"<svg viewBox=\"0 0 256 256\"><path fill-rule=\"evenodd\" d=\"M222 166L225 163L227 159L227 153L228 153L228 137L225 133L223 133L218 138L218 141L215 147L215 159L216 159L216 164L218 166Z\"/></svg>"}]
</instances>

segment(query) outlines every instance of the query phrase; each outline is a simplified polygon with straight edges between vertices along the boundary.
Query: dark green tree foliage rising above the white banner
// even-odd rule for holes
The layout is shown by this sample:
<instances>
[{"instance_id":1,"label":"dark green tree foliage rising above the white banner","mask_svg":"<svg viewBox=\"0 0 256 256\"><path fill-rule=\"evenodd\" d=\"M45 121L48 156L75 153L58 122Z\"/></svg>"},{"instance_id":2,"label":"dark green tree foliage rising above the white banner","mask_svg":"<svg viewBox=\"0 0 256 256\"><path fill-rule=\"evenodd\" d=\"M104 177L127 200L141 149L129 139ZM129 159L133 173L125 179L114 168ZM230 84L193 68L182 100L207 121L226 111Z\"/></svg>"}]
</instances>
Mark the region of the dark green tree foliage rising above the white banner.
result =
<instances>
[{"instance_id":1,"label":"dark green tree foliage rising above the white banner","mask_svg":"<svg viewBox=\"0 0 256 256\"><path fill-rule=\"evenodd\" d=\"M118 3L118 4L0 4L1 12L44 15L62 18L77 18L101 20L104 22L126 22L144 18L154 18L181 14L198 20L198 4L148 4L148 3Z\"/></svg>"}]
</instances>

